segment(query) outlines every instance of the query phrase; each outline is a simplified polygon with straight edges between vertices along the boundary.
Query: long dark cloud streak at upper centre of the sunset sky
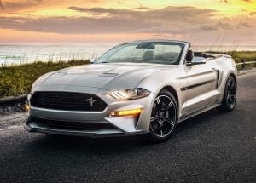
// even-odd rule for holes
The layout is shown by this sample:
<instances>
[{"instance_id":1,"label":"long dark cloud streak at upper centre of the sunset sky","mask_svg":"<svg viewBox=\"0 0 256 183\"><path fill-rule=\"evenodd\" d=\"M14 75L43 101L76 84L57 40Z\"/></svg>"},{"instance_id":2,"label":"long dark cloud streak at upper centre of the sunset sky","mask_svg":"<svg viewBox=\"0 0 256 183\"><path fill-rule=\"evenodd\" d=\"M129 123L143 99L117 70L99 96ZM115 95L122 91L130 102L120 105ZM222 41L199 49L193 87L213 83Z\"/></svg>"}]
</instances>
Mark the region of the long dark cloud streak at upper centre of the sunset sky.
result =
<instances>
[{"instance_id":1,"label":"long dark cloud streak at upper centre of the sunset sky","mask_svg":"<svg viewBox=\"0 0 256 183\"><path fill-rule=\"evenodd\" d=\"M148 9L146 11L139 11L134 9L104 9L104 8L80 8L80 7L69 7L80 13L103 15L108 14L109 20L123 19L123 20L137 20L138 22L145 21L188 21L198 22L204 20L204 17L209 17L217 14L217 11L212 9L197 9L195 7L183 6L174 7L168 6L164 9ZM96 18L96 17L95 17ZM166 22L167 23L167 22ZM170 24L170 22L169 22Z\"/></svg>"}]
</instances>

